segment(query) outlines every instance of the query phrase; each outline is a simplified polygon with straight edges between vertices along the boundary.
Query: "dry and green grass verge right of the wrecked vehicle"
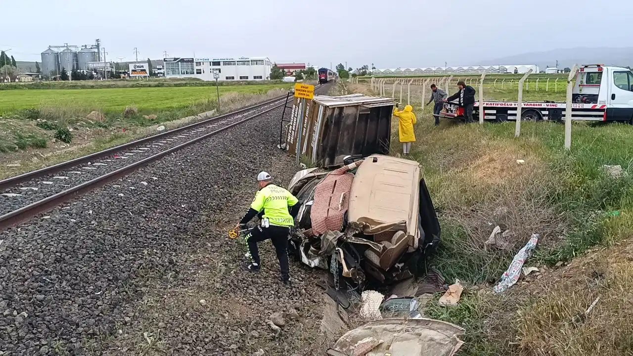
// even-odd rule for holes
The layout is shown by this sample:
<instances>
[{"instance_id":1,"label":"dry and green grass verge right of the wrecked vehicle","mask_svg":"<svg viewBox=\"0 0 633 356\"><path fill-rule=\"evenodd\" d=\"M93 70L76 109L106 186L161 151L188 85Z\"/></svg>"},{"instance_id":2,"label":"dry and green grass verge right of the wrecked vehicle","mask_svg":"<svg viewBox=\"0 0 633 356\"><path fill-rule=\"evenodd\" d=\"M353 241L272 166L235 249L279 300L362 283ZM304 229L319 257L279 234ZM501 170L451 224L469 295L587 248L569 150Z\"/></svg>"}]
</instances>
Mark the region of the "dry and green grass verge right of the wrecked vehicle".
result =
<instances>
[{"instance_id":1,"label":"dry and green grass verge right of the wrecked vehicle","mask_svg":"<svg viewBox=\"0 0 633 356\"><path fill-rule=\"evenodd\" d=\"M363 84L348 90L370 92ZM495 95L513 99L511 92ZM544 92L534 98L557 99ZM465 327L458 355L630 355L633 126L574 123L572 150L565 151L560 124L525 122L515 138L513 122L434 127L430 106L420 111L419 99L413 105L411 156L422 164L442 226L430 263L449 283L466 286L457 307L432 303L427 314ZM396 133L392 154L399 152ZM603 165L621 165L625 174L610 177ZM510 250L484 248L495 226L510 231ZM539 272L492 293L532 233L539 243L524 267Z\"/></svg>"}]
</instances>

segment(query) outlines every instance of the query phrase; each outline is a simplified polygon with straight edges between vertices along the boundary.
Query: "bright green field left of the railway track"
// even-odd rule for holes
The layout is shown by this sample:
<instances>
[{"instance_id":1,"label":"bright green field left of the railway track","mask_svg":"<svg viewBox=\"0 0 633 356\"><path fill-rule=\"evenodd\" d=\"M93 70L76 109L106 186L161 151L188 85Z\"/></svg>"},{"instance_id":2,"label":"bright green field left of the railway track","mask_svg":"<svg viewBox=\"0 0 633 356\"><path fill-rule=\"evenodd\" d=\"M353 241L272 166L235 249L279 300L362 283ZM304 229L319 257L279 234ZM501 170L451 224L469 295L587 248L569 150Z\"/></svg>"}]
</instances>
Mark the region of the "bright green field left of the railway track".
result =
<instances>
[{"instance_id":1,"label":"bright green field left of the railway track","mask_svg":"<svg viewBox=\"0 0 633 356\"><path fill-rule=\"evenodd\" d=\"M263 86L220 86L220 96L263 94L271 89L288 88L288 84ZM34 89L3 91L0 94L0 115L17 115L21 110L41 106L85 108L105 113L121 112L134 105L139 113L155 113L188 106L199 101L215 101L215 87L147 87L118 89ZM221 99L220 99L221 100Z\"/></svg>"}]
</instances>

